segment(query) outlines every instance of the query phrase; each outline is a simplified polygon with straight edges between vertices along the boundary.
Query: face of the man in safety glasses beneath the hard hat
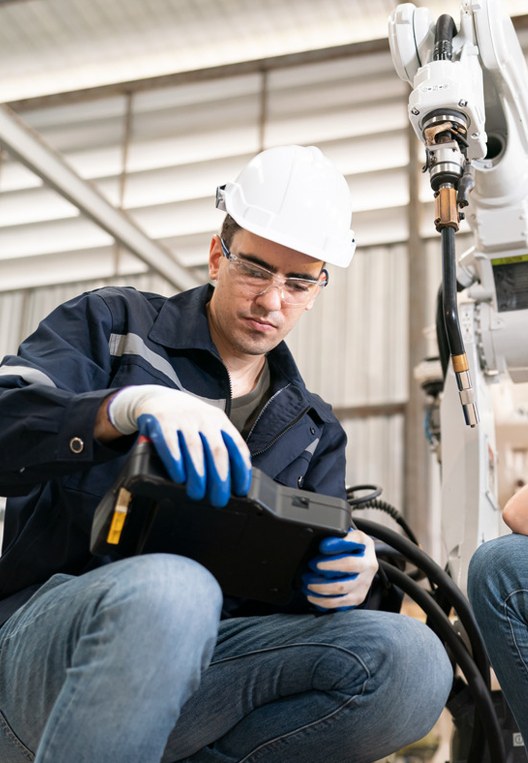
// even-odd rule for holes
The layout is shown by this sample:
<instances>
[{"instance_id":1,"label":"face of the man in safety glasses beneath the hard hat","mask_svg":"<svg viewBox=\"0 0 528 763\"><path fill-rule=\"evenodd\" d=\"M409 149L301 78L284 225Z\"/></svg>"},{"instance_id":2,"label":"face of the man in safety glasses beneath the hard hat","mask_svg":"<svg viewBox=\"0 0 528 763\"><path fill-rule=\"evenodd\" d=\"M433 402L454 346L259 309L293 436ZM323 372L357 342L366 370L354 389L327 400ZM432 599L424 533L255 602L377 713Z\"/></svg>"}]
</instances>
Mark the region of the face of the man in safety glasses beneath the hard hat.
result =
<instances>
[{"instance_id":1,"label":"face of the man in safety glasses beneath the hard hat","mask_svg":"<svg viewBox=\"0 0 528 763\"><path fill-rule=\"evenodd\" d=\"M317 279L323 266L323 262L248 230L235 233L230 251L282 276ZM210 302L211 333L221 354L222 349L236 355L268 353L290 333L302 313L311 309L320 291L316 288L311 301L301 306L284 304L278 288L248 295L232 277L218 236L211 241L209 274L216 281Z\"/></svg>"}]
</instances>

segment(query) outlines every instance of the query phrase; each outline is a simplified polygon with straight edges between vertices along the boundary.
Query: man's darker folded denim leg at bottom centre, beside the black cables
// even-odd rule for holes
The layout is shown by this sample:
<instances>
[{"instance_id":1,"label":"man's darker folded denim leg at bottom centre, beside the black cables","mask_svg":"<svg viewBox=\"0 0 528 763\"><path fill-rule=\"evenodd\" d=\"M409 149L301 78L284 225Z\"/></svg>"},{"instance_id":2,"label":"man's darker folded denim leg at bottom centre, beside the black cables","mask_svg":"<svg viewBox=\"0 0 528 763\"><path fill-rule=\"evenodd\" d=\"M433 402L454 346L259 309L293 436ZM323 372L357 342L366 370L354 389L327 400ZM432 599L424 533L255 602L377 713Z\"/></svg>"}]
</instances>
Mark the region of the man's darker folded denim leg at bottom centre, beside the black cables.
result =
<instances>
[{"instance_id":1,"label":"man's darker folded denim leg at bottom centre, beside the black cables","mask_svg":"<svg viewBox=\"0 0 528 763\"><path fill-rule=\"evenodd\" d=\"M421 739L452 680L437 636L403 615L227 620L163 763L367 763Z\"/></svg>"}]
</instances>

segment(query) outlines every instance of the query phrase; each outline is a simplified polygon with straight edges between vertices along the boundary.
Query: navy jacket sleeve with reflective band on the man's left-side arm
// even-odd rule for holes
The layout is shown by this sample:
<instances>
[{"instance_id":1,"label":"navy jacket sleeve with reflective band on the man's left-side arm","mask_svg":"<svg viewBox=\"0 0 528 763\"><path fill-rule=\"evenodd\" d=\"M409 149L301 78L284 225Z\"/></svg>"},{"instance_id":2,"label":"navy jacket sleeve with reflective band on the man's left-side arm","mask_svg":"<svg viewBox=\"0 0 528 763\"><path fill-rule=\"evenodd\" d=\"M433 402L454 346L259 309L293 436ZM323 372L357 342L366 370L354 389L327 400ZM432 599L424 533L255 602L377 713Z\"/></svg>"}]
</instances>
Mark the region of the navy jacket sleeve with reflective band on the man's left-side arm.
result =
<instances>
[{"instance_id":1,"label":"navy jacket sleeve with reflective band on the man's left-side arm","mask_svg":"<svg viewBox=\"0 0 528 763\"><path fill-rule=\"evenodd\" d=\"M0 494L120 455L94 439L111 389L111 316L97 295L57 307L0 366ZM127 438L128 439L128 438ZM130 446L130 442L128 443Z\"/></svg>"}]
</instances>

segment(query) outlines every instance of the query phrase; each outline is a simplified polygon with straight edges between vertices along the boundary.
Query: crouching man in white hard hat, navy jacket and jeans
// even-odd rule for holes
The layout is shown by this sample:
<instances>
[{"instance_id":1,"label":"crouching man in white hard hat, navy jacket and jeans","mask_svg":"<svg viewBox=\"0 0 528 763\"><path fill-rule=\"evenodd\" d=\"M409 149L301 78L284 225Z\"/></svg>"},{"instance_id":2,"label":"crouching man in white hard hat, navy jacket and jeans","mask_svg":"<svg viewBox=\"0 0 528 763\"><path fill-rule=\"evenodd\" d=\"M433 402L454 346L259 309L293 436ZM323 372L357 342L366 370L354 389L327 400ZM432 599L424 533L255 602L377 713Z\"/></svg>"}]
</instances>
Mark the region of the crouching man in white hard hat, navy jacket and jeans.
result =
<instances>
[{"instance_id":1,"label":"crouching man in white hard hat, navy jacket and jeans","mask_svg":"<svg viewBox=\"0 0 528 763\"><path fill-rule=\"evenodd\" d=\"M327 539L300 603L266 616L222 610L190 559L90 555L138 431L219 507L248 491L251 463L345 495L344 432L282 340L328 283L325 262L354 253L347 183L317 149L285 146L217 205L214 289L82 295L0 369L2 763L373 761L423 736L450 691L430 629L357 608L377 569L363 533Z\"/></svg>"}]
</instances>

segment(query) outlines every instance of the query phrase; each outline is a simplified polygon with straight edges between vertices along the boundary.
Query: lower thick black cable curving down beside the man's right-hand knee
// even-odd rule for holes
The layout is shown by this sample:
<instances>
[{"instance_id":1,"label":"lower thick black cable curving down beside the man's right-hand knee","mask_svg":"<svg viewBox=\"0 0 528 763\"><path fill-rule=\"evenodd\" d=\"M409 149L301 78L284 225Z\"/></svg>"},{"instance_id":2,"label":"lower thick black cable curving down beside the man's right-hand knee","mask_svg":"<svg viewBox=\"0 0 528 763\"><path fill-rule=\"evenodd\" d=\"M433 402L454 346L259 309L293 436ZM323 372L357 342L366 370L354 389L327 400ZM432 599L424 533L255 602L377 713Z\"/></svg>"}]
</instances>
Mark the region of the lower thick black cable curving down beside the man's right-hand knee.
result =
<instances>
[{"instance_id":1,"label":"lower thick black cable curving down beside the man's right-hand knee","mask_svg":"<svg viewBox=\"0 0 528 763\"><path fill-rule=\"evenodd\" d=\"M481 723L477 724L475 716L467 763L482 763L484 739L488 742L490 759L493 763L506 763L504 740L502 739L501 727L498 723L489 688L475 661L469 654L466 645L453 629L446 613L443 612L434 598L424 588L421 588L412 581L405 572L387 562L380 561L379 564L382 565L389 581L392 581L404 593L408 594L424 610L424 613L427 614L427 617L430 618L434 625L434 632L449 646L456 664L459 665L466 678L481 721Z\"/></svg>"}]
</instances>

